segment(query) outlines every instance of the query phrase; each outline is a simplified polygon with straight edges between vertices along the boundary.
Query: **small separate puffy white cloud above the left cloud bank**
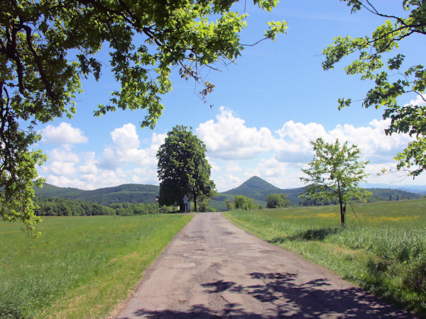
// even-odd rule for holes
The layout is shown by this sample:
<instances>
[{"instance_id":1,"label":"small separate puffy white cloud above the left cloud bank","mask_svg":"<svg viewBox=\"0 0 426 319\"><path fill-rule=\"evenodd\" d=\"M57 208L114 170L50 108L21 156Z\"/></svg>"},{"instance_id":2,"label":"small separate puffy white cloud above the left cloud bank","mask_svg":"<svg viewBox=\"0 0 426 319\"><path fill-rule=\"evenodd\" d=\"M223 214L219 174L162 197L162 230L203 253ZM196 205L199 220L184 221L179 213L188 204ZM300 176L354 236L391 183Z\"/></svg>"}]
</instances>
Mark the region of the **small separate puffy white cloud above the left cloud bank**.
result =
<instances>
[{"instance_id":1,"label":"small separate puffy white cloud above the left cloud bank","mask_svg":"<svg viewBox=\"0 0 426 319\"><path fill-rule=\"evenodd\" d=\"M41 130L42 142L51 144L72 145L87 142L87 138L80 128L73 128L71 124L62 122L58 126L48 125Z\"/></svg>"}]
</instances>

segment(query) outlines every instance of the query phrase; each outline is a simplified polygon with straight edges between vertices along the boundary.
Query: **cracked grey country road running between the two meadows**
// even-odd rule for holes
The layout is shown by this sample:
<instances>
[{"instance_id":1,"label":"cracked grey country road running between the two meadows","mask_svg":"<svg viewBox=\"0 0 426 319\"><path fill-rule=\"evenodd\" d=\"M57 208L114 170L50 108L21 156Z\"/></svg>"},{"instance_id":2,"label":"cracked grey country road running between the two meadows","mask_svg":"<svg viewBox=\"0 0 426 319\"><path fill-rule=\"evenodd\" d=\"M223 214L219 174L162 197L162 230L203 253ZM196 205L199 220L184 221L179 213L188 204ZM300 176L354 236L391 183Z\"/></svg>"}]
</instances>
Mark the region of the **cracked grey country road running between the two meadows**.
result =
<instances>
[{"instance_id":1,"label":"cracked grey country road running between the two meadows","mask_svg":"<svg viewBox=\"0 0 426 319\"><path fill-rule=\"evenodd\" d=\"M412 318L327 269L201 213L170 242L118 318Z\"/></svg>"}]
</instances>

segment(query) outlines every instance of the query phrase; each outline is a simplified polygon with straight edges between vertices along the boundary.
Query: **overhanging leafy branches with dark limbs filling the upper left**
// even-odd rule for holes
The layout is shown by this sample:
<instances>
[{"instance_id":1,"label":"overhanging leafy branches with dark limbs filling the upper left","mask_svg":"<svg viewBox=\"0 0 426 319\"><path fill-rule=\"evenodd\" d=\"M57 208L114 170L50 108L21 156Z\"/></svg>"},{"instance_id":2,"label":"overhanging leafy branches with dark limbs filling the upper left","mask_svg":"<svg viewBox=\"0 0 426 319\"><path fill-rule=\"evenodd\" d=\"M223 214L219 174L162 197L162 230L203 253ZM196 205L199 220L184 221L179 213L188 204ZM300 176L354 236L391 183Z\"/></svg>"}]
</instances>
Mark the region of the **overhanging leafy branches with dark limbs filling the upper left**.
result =
<instances>
[{"instance_id":1,"label":"overhanging leafy branches with dark limbs filling the upper left","mask_svg":"<svg viewBox=\"0 0 426 319\"><path fill-rule=\"evenodd\" d=\"M0 216L34 221L31 186L45 157L31 151L35 125L75 113L80 79L99 79L96 53L109 46L109 67L119 88L94 115L146 109L153 128L172 89L172 67L200 84L202 99L214 84L200 70L234 60L244 45L245 14L236 0L1 0L0 1ZM271 11L278 0L253 0ZM271 22L265 38L285 31ZM25 123L25 124L23 124ZM28 127L26 127L28 123ZM24 125L24 127L21 127ZM39 180L40 181L40 180Z\"/></svg>"}]
</instances>

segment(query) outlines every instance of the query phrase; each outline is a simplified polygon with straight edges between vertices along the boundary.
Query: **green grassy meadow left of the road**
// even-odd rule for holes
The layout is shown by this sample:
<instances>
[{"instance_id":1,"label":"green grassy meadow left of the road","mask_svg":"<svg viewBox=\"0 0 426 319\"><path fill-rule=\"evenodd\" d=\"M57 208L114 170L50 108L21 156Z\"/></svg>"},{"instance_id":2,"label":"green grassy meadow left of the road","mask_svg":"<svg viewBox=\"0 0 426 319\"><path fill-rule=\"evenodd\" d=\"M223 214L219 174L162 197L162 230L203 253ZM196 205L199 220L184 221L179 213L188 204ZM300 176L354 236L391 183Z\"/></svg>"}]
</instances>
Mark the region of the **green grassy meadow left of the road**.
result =
<instances>
[{"instance_id":1,"label":"green grassy meadow left of the road","mask_svg":"<svg viewBox=\"0 0 426 319\"><path fill-rule=\"evenodd\" d=\"M191 216L43 218L31 240L0 223L0 317L104 317Z\"/></svg>"}]
</instances>

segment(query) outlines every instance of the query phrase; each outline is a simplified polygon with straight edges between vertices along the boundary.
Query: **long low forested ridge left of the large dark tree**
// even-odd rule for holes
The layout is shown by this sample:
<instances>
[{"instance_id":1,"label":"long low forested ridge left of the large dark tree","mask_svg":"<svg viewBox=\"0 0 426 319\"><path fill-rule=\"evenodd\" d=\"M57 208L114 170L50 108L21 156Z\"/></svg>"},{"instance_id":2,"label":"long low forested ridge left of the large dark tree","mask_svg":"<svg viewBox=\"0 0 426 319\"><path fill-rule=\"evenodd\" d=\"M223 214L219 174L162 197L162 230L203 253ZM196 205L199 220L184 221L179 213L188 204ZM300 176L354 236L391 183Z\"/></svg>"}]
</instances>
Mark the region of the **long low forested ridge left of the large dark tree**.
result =
<instances>
[{"instance_id":1,"label":"long low forested ridge left of the large dark tree","mask_svg":"<svg viewBox=\"0 0 426 319\"><path fill-rule=\"evenodd\" d=\"M159 186L142 184L124 184L93 191L62 188L44 184L42 188L34 187L35 196L40 198L70 198L109 205L111 203L155 203Z\"/></svg>"}]
</instances>

